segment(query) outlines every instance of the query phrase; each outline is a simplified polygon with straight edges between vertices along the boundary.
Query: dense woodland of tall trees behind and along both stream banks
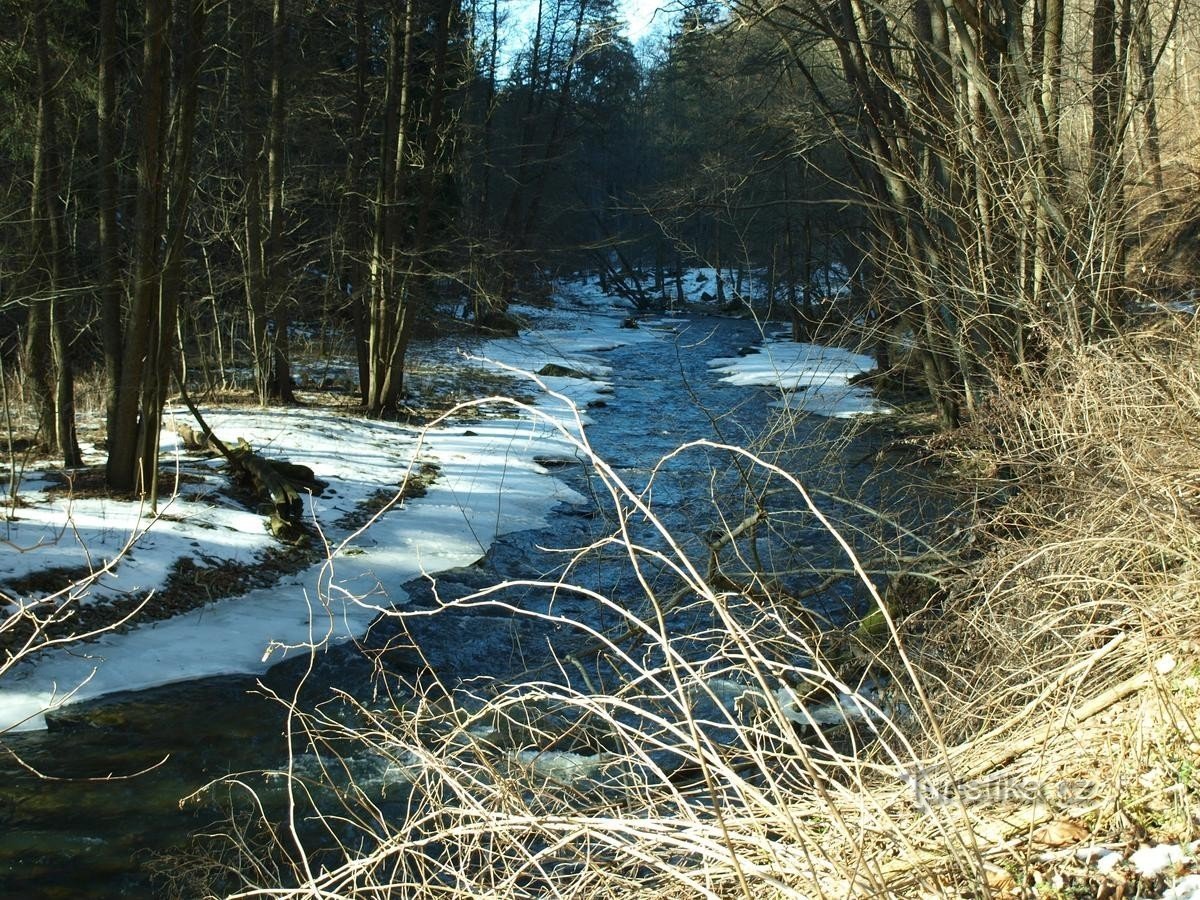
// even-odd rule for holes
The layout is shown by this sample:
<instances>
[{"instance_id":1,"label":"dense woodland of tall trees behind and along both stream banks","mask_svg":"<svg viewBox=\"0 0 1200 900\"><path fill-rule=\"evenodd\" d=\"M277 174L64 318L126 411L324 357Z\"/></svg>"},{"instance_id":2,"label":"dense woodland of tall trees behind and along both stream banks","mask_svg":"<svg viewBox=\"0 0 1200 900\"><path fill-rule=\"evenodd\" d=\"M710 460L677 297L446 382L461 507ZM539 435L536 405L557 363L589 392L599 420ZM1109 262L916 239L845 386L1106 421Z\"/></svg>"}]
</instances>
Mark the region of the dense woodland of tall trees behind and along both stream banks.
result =
<instances>
[{"instance_id":1,"label":"dense woodland of tall trees behind and along both stream banks","mask_svg":"<svg viewBox=\"0 0 1200 900\"><path fill-rule=\"evenodd\" d=\"M636 50L612 0L2 7L7 400L74 464L102 382L118 492L175 385L292 401L296 323L388 416L436 314L505 328L557 272L754 270L809 320L836 263L954 426L1190 268L1180 0L689 0Z\"/></svg>"}]
</instances>

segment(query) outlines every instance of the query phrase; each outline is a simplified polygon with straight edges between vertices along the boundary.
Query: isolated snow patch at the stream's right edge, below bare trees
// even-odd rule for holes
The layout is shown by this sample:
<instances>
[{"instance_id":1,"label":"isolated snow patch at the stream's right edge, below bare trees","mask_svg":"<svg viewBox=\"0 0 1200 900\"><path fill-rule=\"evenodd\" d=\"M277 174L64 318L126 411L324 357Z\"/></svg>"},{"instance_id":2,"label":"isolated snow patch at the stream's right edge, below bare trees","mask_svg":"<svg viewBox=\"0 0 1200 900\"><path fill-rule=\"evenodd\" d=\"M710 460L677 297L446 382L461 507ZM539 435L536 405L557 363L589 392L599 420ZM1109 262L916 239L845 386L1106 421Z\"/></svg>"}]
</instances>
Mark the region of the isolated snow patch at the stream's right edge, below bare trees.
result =
<instances>
[{"instance_id":1,"label":"isolated snow patch at the stream's right edge, below bare trees","mask_svg":"<svg viewBox=\"0 0 1200 900\"><path fill-rule=\"evenodd\" d=\"M892 409L850 379L875 368L875 360L841 347L768 341L754 353L709 362L730 384L774 385L784 391L776 406L834 419L877 415Z\"/></svg>"}]
</instances>

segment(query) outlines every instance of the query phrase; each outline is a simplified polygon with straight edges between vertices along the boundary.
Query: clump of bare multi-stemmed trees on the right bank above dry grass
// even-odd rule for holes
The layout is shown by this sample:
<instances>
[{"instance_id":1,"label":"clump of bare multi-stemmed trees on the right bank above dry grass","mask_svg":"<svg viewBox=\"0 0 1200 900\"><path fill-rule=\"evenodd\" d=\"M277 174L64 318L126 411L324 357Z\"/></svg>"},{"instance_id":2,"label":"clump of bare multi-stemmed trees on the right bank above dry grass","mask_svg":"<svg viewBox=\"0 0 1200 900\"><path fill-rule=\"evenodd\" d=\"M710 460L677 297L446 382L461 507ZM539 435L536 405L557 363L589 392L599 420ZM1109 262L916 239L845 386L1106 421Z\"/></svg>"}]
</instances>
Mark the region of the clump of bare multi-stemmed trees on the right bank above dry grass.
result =
<instances>
[{"instance_id":1,"label":"clump of bare multi-stemmed trees on the right bank above dry grass","mask_svg":"<svg viewBox=\"0 0 1200 900\"><path fill-rule=\"evenodd\" d=\"M911 334L943 424L997 379L1036 378L1046 347L1111 329L1132 228L1129 2L1094 4L1079 174L1062 148L1058 0L740 8L774 29L814 96L822 54L836 54L853 101L823 100L827 120L860 173L881 304ZM1138 68L1152 80L1152 59Z\"/></svg>"}]
</instances>

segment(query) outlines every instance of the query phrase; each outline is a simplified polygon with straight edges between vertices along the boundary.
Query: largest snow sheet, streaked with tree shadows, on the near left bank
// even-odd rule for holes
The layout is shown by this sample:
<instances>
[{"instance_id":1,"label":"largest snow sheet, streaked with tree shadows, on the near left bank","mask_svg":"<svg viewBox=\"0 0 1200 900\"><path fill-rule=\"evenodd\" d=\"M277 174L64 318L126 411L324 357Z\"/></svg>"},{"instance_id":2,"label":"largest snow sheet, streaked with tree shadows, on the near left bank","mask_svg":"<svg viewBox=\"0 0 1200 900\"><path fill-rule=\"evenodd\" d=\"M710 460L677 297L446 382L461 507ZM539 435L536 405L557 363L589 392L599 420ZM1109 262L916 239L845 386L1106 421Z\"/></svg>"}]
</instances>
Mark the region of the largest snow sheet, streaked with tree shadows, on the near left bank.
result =
<instances>
[{"instance_id":1,"label":"largest snow sheet, streaked with tree shadows, on the near left bank","mask_svg":"<svg viewBox=\"0 0 1200 900\"><path fill-rule=\"evenodd\" d=\"M533 461L535 455L568 452L570 444L546 422L529 418L492 420L469 430L462 424L445 426L428 432L420 445L400 426L314 410L211 418L217 433L233 433L232 424L256 448L290 448L290 461L312 467L334 488L332 497L311 500L313 518L331 542L330 559L270 587L126 634L107 634L71 652L50 650L18 666L0 684L0 730L41 726L42 712L65 700L260 672L298 650L355 637L383 610L404 602L404 582L469 565L498 535L540 527L554 505L583 499ZM389 434L390 450L382 445ZM440 468L425 497L382 516L361 535L334 524L376 491L394 492L418 451ZM114 583L128 582L131 589L161 584L175 559L190 552L203 552L214 565L214 559L242 559L269 542L263 518L250 514L244 530L227 529L216 541L202 536L197 523L208 521L212 510L196 502L170 504L182 517L180 523L162 517L138 521L136 510L114 502L108 508L113 516L104 527L112 534L130 524L144 530L133 535L132 558L116 568ZM168 534L170 527L182 533L184 546ZM187 546L193 536L200 547ZM131 580L126 570L137 577Z\"/></svg>"}]
</instances>

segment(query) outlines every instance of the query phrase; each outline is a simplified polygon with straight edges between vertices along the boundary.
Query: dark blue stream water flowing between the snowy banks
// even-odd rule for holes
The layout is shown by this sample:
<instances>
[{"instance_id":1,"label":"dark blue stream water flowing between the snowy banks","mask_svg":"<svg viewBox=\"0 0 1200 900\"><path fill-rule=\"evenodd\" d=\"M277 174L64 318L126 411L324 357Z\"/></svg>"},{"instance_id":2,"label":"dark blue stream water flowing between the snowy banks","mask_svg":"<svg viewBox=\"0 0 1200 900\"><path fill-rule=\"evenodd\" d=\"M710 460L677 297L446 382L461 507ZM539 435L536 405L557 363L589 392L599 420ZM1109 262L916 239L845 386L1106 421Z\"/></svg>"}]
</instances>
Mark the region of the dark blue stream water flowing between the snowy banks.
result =
<instances>
[{"instance_id":1,"label":"dark blue stream water flowing between the snowy banks","mask_svg":"<svg viewBox=\"0 0 1200 900\"><path fill-rule=\"evenodd\" d=\"M678 335L662 342L605 354L614 390L607 406L589 410L593 445L638 488L658 460L684 442L742 442L761 434L778 398L774 391L721 384L708 370L708 360L736 355L760 338L752 323L690 319L679 320L677 329ZM871 502L877 486L858 461L877 446L880 430L865 430L839 445L840 462L832 463L828 448L846 427L802 420L781 437L793 448L787 468L809 486L838 490L844 482L865 481L865 499ZM598 488L583 466L565 467L556 475L584 493ZM686 540L700 541L722 499L730 500L724 511L737 517L736 475L727 456L691 451L655 476L654 509ZM509 535L479 564L440 576L438 596L454 599L499 580L550 571L562 557L542 548L584 546L611 527L602 512L563 509L548 528ZM797 529L790 540L805 548L814 565L836 563L836 548L822 528L812 522ZM619 554L611 563L589 563L572 577L607 595L632 595L638 589ZM432 606L428 586L414 583L409 593L415 607ZM862 602L852 586L822 600L830 610ZM571 607L560 601L557 612L607 624L586 604ZM426 664L443 678L511 676L539 664L536 648L545 635L523 635L527 628L520 618L496 610L415 619L409 630L424 659L400 653L389 659L389 667L401 677ZM383 646L394 631L384 623L368 643ZM320 660L306 691L317 698L328 685L336 685L368 696L376 685L372 672L358 649L336 648ZM284 712L264 696L259 682L287 692L296 678L296 666L286 665L263 679L204 679L109 697L67 708L52 718L46 732L5 738L2 746L11 752L0 761L0 896L154 895L146 863L217 818L211 805L181 805L180 799L227 773L283 764Z\"/></svg>"}]
</instances>

